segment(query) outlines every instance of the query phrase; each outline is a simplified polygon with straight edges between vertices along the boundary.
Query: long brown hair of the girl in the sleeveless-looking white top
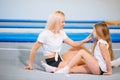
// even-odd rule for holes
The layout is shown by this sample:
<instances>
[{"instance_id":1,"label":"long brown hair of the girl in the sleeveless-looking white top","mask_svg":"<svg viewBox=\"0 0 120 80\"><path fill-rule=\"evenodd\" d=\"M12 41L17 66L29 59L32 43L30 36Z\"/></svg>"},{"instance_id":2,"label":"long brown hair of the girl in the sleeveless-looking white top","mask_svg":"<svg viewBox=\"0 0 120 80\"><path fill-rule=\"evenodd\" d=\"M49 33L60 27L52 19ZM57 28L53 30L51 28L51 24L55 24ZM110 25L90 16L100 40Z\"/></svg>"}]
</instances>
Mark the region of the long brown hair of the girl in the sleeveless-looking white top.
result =
<instances>
[{"instance_id":1,"label":"long brown hair of the girl in the sleeveless-looking white top","mask_svg":"<svg viewBox=\"0 0 120 80\"><path fill-rule=\"evenodd\" d=\"M111 39L110 39L110 32L109 32L109 28L105 23L97 23L94 25L94 28L96 30L96 34L103 40L107 41L107 43L109 44L109 54L110 54L110 58L111 60L114 59L114 55L113 55L113 50L112 50L112 43L111 43ZM94 42L94 47L92 49L92 52L95 49L97 40L95 40Z\"/></svg>"}]
</instances>

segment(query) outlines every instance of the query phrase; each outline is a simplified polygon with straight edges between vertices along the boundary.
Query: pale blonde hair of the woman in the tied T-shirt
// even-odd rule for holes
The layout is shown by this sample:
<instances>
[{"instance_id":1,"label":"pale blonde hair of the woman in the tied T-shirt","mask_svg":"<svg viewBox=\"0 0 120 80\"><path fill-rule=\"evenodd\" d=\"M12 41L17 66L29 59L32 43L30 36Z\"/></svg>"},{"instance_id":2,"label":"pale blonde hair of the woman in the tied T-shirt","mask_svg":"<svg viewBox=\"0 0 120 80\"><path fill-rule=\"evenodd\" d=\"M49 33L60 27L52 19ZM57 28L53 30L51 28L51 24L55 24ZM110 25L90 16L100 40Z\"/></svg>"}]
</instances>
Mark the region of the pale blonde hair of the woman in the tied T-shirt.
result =
<instances>
[{"instance_id":1,"label":"pale blonde hair of the woman in the tied T-shirt","mask_svg":"<svg viewBox=\"0 0 120 80\"><path fill-rule=\"evenodd\" d=\"M63 17L65 18L65 14L62 11L55 11L54 13L52 13L47 20L46 29L54 30L54 33L59 33L59 24Z\"/></svg>"}]
</instances>

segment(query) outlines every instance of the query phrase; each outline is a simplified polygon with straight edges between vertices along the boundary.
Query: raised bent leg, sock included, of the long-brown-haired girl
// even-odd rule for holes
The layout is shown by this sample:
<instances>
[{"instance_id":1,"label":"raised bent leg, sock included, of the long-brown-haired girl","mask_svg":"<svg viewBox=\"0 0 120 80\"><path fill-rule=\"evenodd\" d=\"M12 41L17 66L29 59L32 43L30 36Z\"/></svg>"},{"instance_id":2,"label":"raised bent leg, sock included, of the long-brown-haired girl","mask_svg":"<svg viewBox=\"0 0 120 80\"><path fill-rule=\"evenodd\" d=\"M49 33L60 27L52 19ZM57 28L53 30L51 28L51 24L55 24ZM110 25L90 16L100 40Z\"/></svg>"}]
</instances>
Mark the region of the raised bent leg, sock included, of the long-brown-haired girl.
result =
<instances>
[{"instance_id":1,"label":"raised bent leg, sock included, of the long-brown-haired girl","mask_svg":"<svg viewBox=\"0 0 120 80\"><path fill-rule=\"evenodd\" d=\"M85 50L80 50L77 55L68 63L66 67L56 71L56 73L68 73L68 70L72 68L76 63L78 63L82 58L84 58L86 66L93 74L100 74L100 69L97 60Z\"/></svg>"}]
</instances>

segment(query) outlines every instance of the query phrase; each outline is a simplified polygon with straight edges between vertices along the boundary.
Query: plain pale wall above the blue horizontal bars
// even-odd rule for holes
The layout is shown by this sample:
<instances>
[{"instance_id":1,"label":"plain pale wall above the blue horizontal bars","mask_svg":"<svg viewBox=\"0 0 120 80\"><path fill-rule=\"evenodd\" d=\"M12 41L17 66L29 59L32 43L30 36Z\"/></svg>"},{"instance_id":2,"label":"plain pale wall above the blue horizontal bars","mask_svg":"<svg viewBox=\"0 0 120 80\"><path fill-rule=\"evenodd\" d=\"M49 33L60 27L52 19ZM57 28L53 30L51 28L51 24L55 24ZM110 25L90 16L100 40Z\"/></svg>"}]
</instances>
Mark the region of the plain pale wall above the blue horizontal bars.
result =
<instances>
[{"instance_id":1,"label":"plain pale wall above the blue horizontal bars","mask_svg":"<svg viewBox=\"0 0 120 80\"><path fill-rule=\"evenodd\" d=\"M0 19L44 19L62 10L67 20L120 20L120 0L0 0Z\"/></svg>"}]
</instances>

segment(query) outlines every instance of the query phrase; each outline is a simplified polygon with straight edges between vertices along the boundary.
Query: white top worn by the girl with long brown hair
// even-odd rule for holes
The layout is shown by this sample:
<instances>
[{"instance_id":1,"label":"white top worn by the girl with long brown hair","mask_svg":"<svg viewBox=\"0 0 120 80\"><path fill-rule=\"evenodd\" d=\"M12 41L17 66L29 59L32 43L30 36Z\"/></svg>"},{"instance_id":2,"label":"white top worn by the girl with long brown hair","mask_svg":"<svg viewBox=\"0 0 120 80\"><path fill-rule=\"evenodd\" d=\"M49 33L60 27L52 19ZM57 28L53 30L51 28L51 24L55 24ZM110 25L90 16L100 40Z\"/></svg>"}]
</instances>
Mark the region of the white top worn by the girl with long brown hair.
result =
<instances>
[{"instance_id":1,"label":"white top worn by the girl with long brown hair","mask_svg":"<svg viewBox=\"0 0 120 80\"><path fill-rule=\"evenodd\" d=\"M101 70L104 72L107 72L106 62L105 62L105 60L102 56L102 53L100 51L99 43L105 44L107 46L107 48L109 47L109 45L105 40L100 39L100 40L98 40L97 45L96 45L95 50L94 50L94 57L97 59Z\"/></svg>"}]
</instances>

